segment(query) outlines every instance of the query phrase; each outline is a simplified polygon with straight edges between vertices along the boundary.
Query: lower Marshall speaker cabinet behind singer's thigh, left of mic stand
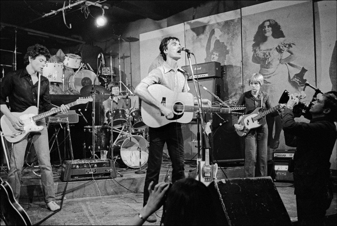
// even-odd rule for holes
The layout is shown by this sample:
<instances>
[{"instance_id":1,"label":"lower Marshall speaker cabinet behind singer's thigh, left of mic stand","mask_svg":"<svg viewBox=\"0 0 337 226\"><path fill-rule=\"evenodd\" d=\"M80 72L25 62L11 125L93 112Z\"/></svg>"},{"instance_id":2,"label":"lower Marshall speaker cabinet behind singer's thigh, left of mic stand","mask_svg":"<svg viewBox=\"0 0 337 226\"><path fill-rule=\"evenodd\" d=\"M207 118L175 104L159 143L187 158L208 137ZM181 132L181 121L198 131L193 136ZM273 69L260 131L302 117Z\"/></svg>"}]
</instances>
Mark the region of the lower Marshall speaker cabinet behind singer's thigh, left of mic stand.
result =
<instances>
[{"instance_id":1,"label":"lower Marshall speaker cabinet behind singer's thigh, left of mic stand","mask_svg":"<svg viewBox=\"0 0 337 226\"><path fill-rule=\"evenodd\" d=\"M197 146L197 122L190 122L187 124L181 124L181 130L184 138L184 155L185 160L197 159L198 149Z\"/></svg>"}]
</instances>

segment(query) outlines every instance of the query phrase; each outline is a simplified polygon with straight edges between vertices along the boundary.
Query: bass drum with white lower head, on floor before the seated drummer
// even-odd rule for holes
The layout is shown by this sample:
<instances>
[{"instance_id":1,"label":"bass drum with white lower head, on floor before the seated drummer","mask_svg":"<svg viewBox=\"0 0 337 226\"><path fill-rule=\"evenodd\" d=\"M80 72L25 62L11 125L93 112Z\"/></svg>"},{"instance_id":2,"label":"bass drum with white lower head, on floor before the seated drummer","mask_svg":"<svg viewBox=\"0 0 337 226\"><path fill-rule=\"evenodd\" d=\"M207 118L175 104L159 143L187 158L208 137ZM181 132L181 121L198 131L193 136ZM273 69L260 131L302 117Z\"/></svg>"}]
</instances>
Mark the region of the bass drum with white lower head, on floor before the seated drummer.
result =
<instances>
[{"instance_id":1,"label":"bass drum with white lower head, on floor before the seated drummer","mask_svg":"<svg viewBox=\"0 0 337 226\"><path fill-rule=\"evenodd\" d=\"M139 147L141 147L141 165L147 163L149 142L142 136L124 135L117 141L113 149L114 156L120 156L123 163L130 168L139 168Z\"/></svg>"}]
</instances>

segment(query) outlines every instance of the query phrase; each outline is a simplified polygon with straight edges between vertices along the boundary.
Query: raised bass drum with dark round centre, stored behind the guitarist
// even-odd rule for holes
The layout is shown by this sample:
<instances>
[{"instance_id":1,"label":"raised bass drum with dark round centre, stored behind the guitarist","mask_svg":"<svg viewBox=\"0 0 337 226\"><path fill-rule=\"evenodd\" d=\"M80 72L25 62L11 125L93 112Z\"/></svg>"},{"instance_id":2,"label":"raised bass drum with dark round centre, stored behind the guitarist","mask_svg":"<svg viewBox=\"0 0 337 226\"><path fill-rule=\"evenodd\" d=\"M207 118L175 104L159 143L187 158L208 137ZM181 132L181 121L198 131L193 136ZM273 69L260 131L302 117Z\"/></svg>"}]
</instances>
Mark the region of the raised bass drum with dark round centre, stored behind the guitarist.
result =
<instances>
[{"instance_id":1,"label":"raised bass drum with dark round centre, stored behind the guitarist","mask_svg":"<svg viewBox=\"0 0 337 226\"><path fill-rule=\"evenodd\" d=\"M81 94L82 87L86 85L93 85L96 74L91 70L80 70L72 73L69 77L69 87L73 94ZM99 79L96 78L95 85L99 85Z\"/></svg>"}]
</instances>

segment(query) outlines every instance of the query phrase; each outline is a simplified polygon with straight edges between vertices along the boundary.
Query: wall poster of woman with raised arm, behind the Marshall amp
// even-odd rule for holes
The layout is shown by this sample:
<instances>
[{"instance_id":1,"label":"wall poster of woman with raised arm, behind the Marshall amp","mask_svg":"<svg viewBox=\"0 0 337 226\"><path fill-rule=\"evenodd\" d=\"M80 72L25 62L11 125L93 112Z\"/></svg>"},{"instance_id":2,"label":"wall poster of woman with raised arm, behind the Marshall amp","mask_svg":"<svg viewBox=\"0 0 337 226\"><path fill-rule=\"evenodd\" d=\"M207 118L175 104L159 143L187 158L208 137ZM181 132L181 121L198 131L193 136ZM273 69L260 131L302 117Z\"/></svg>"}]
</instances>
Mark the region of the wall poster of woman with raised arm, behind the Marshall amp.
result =
<instances>
[{"instance_id":1,"label":"wall poster of woman with raised arm, behind the Marshall amp","mask_svg":"<svg viewBox=\"0 0 337 226\"><path fill-rule=\"evenodd\" d=\"M240 17L240 10L234 10L185 22L186 48L194 53L196 63L222 65L225 100L242 94ZM191 63L195 63L193 59Z\"/></svg>"}]
</instances>

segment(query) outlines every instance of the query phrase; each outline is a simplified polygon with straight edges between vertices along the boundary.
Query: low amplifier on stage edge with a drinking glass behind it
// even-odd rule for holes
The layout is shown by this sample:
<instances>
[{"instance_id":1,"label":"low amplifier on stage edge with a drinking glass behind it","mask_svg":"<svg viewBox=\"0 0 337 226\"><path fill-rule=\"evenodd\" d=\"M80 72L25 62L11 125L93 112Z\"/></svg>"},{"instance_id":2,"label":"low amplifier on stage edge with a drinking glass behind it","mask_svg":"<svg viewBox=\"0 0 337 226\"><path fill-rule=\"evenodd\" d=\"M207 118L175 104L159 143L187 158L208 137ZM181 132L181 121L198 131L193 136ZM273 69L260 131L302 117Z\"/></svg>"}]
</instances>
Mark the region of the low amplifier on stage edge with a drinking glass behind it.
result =
<instances>
[{"instance_id":1,"label":"low amplifier on stage edge with a drinking glass behind it","mask_svg":"<svg viewBox=\"0 0 337 226\"><path fill-rule=\"evenodd\" d=\"M60 179L62 181L67 181L69 172L69 181L90 180L92 177L94 177L94 179L109 179L111 177L117 177L115 164L111 159L66 160L62 165Z\"/></svg>"}]
</instances>

